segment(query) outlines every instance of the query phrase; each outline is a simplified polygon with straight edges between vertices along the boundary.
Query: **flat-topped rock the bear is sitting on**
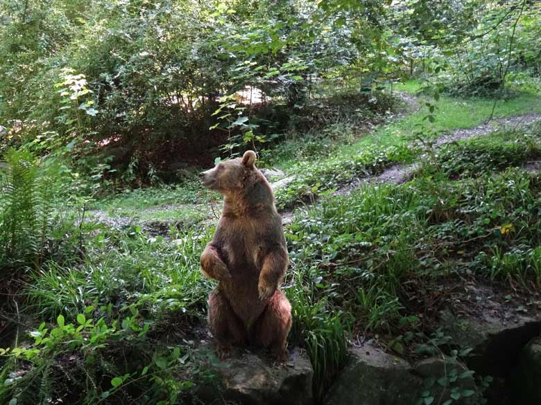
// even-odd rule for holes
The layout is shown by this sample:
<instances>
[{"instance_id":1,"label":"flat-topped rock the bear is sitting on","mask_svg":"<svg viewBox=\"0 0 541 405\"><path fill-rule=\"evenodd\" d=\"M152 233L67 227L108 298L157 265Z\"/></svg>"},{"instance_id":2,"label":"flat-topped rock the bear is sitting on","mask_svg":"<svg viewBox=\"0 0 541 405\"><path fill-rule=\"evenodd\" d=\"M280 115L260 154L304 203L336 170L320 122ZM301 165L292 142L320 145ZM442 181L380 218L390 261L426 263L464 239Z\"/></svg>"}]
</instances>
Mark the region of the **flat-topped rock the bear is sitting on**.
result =
<instances>
[{"instance_id":1,"label":"flat-topped rock the bear is sitting on","mask_svg":"<svg viewBox=\"0 0 541 405\"><path fill-rule=\"evenodd\" d=\"M309 405L314 371L306 352L296 348L286 365L245 352L212 366L221 382L219 397L242 405ZM209 398L200 398L204 403ZM223 402L220 402L223 403Z\"/></svg>"}]
</instances>

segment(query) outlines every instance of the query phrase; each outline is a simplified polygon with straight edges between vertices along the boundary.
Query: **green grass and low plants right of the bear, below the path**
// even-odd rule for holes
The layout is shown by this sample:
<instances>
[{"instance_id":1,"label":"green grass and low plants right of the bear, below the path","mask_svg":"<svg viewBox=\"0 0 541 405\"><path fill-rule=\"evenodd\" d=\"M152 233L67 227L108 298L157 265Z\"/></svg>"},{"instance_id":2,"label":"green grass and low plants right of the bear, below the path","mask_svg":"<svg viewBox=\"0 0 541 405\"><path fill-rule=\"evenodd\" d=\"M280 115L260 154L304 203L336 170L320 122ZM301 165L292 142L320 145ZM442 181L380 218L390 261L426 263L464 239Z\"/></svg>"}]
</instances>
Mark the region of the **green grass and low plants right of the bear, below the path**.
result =
<instances>
[{"instance_id":1,"label":"green grass and low plants right of the bear, below the path","mask_svg":"<svg viewBox=\"0 0 541 405\"><path fill-rule=\"evenodd\" d=\"M404 300L406 280L430 289L442 278L474 275L541 287L540 194L540 177L513 169L329 197L289 226L293 274L304 274L314 303L329 300L350 314L355 330L396 336L415 316Z\"/></svg>"}]
</instances>

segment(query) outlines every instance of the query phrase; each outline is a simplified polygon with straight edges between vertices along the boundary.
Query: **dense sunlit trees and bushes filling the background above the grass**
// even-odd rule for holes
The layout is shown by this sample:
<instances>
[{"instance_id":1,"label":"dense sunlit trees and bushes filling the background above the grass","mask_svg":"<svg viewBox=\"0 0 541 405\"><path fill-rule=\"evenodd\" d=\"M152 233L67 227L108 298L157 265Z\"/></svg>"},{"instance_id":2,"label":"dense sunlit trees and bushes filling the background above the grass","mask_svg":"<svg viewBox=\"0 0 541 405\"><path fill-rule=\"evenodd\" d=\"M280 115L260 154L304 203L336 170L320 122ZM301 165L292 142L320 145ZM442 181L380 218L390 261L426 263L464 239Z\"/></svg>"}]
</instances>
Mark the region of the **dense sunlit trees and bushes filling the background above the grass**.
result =
<instances>
[{"instance_id":1,"label":"dense sunlit trees and bushes filling the background above the grass","mask_svg":"<svg viewBox=\"0 0 541 405\"><path fill-rule=\"evenodd\" d=\"M537 77L539 13L535 1L6 0L0 150L166 179L220 145L306 125L329 90L436 71L472 96Z\"/></svg>"}]
</instances>

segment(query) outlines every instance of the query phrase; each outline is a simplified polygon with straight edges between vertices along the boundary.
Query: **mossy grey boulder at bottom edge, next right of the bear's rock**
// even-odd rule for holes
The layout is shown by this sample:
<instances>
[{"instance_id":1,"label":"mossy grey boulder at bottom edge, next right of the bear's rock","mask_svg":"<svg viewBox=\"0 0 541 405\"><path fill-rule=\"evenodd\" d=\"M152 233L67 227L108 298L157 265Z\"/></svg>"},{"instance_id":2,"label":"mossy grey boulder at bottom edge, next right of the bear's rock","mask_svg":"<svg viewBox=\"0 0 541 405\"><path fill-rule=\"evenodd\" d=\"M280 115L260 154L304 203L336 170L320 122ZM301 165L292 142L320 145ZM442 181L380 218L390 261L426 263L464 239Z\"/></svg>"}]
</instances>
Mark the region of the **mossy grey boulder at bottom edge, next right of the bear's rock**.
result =
<instances>
[{"instance_id":1,"label":"mossy grey boulder at bottom edge, next right of the bear's rock","mask_svg":"<svg viewBox=\"0 0 541 405\"><path fill-rule=\"evenodd\" d=\"M411 366L370 345L350 349L345 368L332 385L328 405L404 405L420 397L422 379Z\"/></svg>"}]
</instances>

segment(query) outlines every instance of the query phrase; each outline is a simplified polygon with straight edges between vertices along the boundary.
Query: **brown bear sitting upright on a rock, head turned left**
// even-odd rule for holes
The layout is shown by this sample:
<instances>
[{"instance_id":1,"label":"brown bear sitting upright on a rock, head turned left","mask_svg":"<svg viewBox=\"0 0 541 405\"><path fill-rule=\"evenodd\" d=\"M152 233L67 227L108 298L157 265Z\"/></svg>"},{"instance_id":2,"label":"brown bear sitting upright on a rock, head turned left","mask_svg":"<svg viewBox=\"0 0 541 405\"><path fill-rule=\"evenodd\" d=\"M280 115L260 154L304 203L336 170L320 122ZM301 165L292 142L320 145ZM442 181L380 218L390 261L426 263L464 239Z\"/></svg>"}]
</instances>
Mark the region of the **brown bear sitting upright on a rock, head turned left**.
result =
<instances>
[{"instance_id":1,"label":"brown bear sitting upright on a rock, head turned left","mask_svg":"<svg viewBox=\"0 0 541 405\"><path fill-rule=\"evenodd\" d=\"M232 345L249 343L285 361L291 305L278 286L289 258L273 190L255 158L249 150L200 174L205 188L224 197L216 233L201 254L201 270L218 280L209 295L218 356L228 357Z\"/></svg>"}]
</instances>

